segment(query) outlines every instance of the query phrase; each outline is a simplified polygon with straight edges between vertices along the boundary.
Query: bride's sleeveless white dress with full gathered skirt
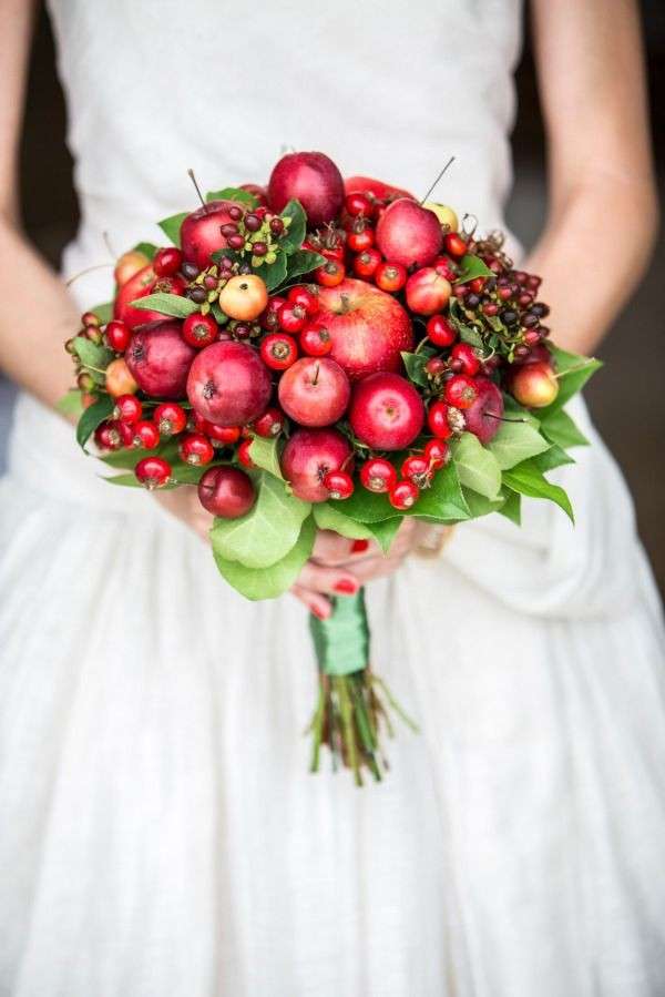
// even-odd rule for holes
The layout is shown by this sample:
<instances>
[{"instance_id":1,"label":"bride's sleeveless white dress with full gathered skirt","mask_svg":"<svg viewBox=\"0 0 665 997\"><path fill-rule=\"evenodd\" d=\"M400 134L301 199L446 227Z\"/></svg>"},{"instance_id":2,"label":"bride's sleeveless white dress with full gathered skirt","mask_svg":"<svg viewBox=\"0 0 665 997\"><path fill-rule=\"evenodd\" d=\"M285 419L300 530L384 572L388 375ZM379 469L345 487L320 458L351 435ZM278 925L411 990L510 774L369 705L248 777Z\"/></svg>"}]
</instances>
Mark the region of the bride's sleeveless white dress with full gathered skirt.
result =
<instances>
[{"instance_id":1,"label":"bride's sleeveless white dress with full gathered skirt","mask_svg":"<svg viewBox=\"0 0 665 997\"><path fill-rule=\"evenodd\" d=\"M51 0L82 225L68 274L283 144L501 223L516 0ZM48 163L44 163L48 181ZM101 273L101 276L100 276ZM109 296L96 272L81 306ZM601 375L602 376L602 375ZM253 604L22 397L0 484L0 994L665 993L663 629L624 482L573 529L462 526L369 588L417 716L357 791L307 774L306 612Z\"/></svg>"}]
</instances>

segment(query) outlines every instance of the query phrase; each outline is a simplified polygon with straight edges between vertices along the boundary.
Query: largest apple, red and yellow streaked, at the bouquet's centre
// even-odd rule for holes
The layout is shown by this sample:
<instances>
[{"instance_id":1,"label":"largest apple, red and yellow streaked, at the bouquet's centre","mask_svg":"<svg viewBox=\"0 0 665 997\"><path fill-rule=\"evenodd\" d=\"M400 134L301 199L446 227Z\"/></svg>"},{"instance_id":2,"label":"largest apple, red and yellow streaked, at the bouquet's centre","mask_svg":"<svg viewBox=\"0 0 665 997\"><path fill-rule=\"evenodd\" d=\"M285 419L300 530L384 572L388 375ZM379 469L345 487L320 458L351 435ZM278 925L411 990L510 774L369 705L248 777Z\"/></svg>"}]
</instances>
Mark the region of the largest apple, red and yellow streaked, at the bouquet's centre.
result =
<instances>
[{"instance_id":1,"label":"largest apple, red and yellow streaked, at the bouquet's centre","mask_svg":"<svg viewBox=\"0 0 665 997\"><path fill-rule=\"evenodd\" d=\"M351 380L379 370L400 370L401 350L413 346L411 321L391 294L365 281L319 288L317 322L330 335L329 356Z\"/></svg>"}]
</instances>

